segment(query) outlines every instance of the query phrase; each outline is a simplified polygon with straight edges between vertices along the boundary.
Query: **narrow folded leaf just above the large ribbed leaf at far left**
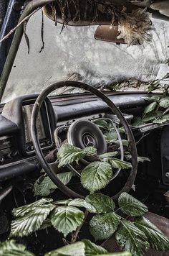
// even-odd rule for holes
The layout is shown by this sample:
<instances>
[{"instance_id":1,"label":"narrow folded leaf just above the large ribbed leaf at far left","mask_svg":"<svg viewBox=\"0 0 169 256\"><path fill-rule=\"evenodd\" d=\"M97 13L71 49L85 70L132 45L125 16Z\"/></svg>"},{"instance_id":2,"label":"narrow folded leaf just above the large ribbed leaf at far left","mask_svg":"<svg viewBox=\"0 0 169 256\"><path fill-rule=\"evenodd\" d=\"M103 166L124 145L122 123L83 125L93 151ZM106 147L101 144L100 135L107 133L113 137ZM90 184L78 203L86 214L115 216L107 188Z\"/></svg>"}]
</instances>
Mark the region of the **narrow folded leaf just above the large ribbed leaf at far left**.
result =
<instances>
[{"instance_id":1,"label":"narrow folded leaf just above the large ribbed leaf at far left","mask_svg":"<svg viewBox=\"0 0 169 256\"><path fill-rule=\"evenodd\" d=\"M32 210L36 210L37 208L41 207L41 206L52 206L52 198L42 198L38 201L35 201L32 204L26 204L25 206L21 206L18 208L15 208L12 210L12 214L14 215L14 217L20 217L20 216L24 216L26 213L31 212Z\"/></svg>"}]
</instances>

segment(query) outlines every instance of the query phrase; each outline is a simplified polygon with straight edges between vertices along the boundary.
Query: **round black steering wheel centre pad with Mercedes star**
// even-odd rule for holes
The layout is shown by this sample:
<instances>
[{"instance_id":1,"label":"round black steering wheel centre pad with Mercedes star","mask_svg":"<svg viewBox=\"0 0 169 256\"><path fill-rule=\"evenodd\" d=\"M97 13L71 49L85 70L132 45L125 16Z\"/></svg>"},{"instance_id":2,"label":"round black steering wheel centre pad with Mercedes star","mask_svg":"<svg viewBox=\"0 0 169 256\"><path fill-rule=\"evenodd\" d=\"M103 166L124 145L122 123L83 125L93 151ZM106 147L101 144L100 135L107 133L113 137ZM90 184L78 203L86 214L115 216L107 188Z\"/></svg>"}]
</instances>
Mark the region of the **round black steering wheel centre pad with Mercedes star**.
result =
<instances>
[{"instance_id":1,"label":"round black steering wheel centre pad with Mercedes star","mask_svg":"<svg viewBox=\"0 0 169 256\"><path fill-rule=\"evenodd\" d=\"M97 154L107 152L107 143L99 127L88 120L77 120L73 122L67 133L67 141L74 147L84 149L95 147Z\"/></svg>"}]
</instances>

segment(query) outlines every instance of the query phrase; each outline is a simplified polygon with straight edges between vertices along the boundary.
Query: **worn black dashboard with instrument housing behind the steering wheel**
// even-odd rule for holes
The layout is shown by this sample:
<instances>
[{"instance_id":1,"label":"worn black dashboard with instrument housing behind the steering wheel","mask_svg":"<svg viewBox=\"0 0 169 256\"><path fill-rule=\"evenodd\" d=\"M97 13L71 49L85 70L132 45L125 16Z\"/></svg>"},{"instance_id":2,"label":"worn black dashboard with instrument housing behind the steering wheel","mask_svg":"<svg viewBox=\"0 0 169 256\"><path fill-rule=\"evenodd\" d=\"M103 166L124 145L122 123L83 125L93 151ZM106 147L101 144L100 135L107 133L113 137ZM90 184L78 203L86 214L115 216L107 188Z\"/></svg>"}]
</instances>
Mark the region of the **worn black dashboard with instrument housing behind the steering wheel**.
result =
<instances>
[{"instance_id":1,"label":"worn black dashboard with instrument housing behind the steering wheel","mask_svg":"<svg viewBox=\"0 0 169 256\"><path fill-rule=\"evenodd\" d=\"M146 93L108 93L107 96L126 113L143 109ZM37 170L32 145L30 119L37 95L20 96L0 106L0 181ZM105 103L91 94L52 96L42 105L37 124L44 154L54 150L54 130L75 119L95 119L109 114Z\"/></svg>"}]
</instances>

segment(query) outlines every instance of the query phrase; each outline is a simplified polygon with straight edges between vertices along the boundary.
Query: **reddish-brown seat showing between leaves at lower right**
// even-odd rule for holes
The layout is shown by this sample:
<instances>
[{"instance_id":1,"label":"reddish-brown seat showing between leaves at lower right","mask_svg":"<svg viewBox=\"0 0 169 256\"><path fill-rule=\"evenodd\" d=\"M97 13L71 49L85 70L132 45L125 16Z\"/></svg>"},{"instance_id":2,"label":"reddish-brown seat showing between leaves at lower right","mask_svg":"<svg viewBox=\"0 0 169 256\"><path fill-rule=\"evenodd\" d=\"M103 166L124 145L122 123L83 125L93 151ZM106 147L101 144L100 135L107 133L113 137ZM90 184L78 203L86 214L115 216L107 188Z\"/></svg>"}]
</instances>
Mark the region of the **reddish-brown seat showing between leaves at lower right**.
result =
<instances>
[{"instance_id":1,"label":"reddish-brown seat showing between leaves at lower right","mask_svg":"<svg viewBox=\"0 0 169 256\"><path fill-rule=\"evenodd\" d=\"M155 224L158 229L160 229L167 237L169 237L169 219L164 218L163 216L159 216L157 214L153 214L148 212L145 214L145 218ZM120 247L115 241L115 237L110 237L104 243L102 243L102 247L104 247L108 252L120 252ZM160 252L157 250L150 249L145 253L145 256L169 256L169 251Z\"/></svg>"}]
</instances>

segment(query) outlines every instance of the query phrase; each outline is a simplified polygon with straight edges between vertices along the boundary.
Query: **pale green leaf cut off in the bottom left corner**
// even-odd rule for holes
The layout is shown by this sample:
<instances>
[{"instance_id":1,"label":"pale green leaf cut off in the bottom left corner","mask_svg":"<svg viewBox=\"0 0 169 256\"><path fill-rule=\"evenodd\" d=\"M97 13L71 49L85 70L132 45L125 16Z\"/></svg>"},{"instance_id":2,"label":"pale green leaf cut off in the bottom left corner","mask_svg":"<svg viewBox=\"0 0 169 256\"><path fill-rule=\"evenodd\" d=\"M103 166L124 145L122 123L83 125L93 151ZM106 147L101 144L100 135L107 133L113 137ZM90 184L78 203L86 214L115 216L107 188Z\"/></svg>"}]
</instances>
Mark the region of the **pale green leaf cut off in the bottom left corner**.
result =
<instances>
[{"instance_id":1,"label":"pale green leaf cut off in the bottom left corner","mask_svg":"<svg viewBox=\"0 0 169 256\"><path fill-rule=\"evenodd\" d=\"M33 256L32 252L26 250L23 244L16 244L14 240L8 240L0 243L1 256Z\"/></svg>"}]
</instances>

